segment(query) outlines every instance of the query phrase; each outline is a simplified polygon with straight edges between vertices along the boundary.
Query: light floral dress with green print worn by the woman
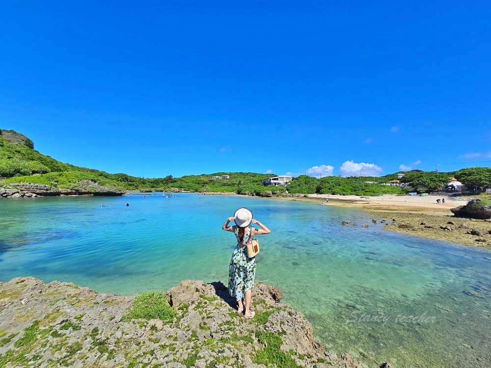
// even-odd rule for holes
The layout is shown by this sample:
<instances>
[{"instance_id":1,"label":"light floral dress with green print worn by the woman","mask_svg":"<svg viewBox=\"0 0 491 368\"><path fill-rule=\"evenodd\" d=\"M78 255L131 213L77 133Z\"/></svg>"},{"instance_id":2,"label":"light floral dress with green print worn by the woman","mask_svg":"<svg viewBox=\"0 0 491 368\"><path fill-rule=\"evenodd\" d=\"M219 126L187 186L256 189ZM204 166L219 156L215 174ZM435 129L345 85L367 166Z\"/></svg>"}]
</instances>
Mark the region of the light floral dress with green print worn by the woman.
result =
<instances>
[{"instance_id":1,"label":"light floral dress with green print worn by the woman","mask_svg":"<svg viewBox=\"0 0 491 368\"><path fill-rule=\"evenodd\" d=\"M254 287L254 277L256 276L256 257L247 257L246 244L250 237L251 228L244 234L241 248L239 229L234 225L234 234L237 237L237 246L232 254L230 268L228 271L228 290L230 295L236 300L241 300L246 295L246 291Z\"/></svg>"}]
</instances>

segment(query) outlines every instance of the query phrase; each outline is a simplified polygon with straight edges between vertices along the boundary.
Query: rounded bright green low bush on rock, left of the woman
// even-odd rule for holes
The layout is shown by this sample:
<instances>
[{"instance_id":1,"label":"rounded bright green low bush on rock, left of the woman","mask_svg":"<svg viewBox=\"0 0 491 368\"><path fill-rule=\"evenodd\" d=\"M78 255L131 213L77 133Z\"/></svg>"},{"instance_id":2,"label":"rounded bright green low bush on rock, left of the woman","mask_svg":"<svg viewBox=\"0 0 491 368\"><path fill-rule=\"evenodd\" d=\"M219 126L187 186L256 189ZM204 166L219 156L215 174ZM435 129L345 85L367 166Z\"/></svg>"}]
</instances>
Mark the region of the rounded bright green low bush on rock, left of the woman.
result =
<instances>
[{"instance_id":1,"label":"rounded bright green low bush on rock, left of the woman","mask_svg":"<svg viewBox=\"0 0 491 368\"><path fill-rule=\"evenodd\" d=\"M123 322L132 319L154 318L170 321L177 315L176 311L167 303L167 297L162 292L144 292L138 295L126 310L129 313L121 318Z\"/></svg>"}]
</instances>

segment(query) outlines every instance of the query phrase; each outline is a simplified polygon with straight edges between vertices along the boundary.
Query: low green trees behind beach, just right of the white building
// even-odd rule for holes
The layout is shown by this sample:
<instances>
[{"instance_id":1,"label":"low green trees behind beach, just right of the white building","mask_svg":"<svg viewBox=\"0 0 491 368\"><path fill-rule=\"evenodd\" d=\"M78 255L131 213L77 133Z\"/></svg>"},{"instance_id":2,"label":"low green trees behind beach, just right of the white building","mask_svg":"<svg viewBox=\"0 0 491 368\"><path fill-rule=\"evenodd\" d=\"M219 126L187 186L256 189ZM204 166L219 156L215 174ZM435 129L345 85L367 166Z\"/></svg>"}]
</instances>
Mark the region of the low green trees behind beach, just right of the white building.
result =
<instances>
[{"instance_id":1,"label":"low green trees behind beach, just right of the white building","mask_svg":"<svg viewBox=\"0 0 491 368\"><path fill-rule=\"evenodd\" d=\"M356 177L339 178L335 176L316 179L310 176L300 175L288 183L286 188L292 194L381 195L404 193L398 186L370 184Z\"/></svg>"}]
</instances>

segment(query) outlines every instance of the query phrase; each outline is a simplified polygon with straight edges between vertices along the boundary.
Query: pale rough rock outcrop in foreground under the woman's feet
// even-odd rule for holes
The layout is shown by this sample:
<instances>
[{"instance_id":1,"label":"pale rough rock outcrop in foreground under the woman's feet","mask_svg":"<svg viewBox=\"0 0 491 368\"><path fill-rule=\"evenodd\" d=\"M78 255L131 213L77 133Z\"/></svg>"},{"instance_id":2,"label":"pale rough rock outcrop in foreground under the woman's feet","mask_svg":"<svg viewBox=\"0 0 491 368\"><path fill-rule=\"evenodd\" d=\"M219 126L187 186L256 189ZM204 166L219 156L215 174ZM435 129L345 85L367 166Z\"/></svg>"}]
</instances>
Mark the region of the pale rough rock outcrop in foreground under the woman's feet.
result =
<instances>
[{"instance_id":1,"label":"pale rough rock outcrop in foreground under the woman's feet","mask_svg":"<svg viewBox=\"0 0 491 368\"><path fill-rule=\"evenodd\" d=\"M256 284L250 320L220 282L185 280L164 297L171 319L132 319L134 296L32 277L0 283L0 367L364 367L315 342L278 288Z\"/></svg>"}]
</instances>

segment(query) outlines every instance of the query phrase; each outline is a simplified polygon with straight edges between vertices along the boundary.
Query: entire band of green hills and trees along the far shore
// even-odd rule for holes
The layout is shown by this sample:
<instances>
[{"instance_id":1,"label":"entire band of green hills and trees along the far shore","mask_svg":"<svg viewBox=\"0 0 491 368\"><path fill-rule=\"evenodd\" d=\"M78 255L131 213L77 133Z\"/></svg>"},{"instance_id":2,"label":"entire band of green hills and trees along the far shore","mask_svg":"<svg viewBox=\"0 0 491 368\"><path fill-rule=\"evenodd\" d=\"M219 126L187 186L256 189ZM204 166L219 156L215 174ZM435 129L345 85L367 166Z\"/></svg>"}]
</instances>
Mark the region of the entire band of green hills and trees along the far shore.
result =
<instances>
[{"instance_id":1,"label":"entire band of green hills and trees along the far shore","mask_svg":"<svg viewBox=\"0 0 491 368\"><path fill-rule=\"evenodd\" d=\"M402 173L402 171L400 172ZM377 183L387 183L397 179L398 173L377 177ZM228 175L229 178L222 178ZM137 190L166 190L194 192L235 192L239 194L265 192L283 193L319 193L319 194L355 194L380 195L403 194L397 186L373 184L373 177L325 177L322 179L300 175L285 187L265 187L263 181L274 174L258 174L243 172L218 172L213 174L186 175L173 178L144 179L118 173L109 174L105 171L88 169L60 162L50 156L34 150L34 143L24 134L12 130L0 130L0 178L7 178L5 184L32 183L47 184L52 187L70 188L82 180L92 180L99 185ZM218 179L213 177L219 177ZM491 184L491 168L464 168L451 173L411 170L405 172L401 180L407 183L406 191L426 191L442 188L449 177L455 177L469 188L482 190Z\"/></svg>"}]
</instances>

